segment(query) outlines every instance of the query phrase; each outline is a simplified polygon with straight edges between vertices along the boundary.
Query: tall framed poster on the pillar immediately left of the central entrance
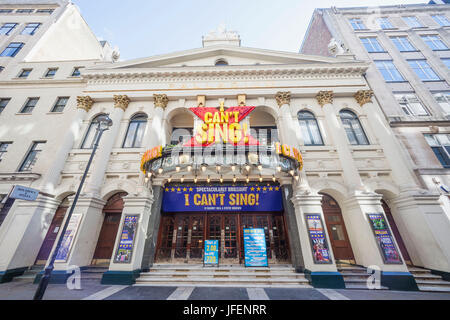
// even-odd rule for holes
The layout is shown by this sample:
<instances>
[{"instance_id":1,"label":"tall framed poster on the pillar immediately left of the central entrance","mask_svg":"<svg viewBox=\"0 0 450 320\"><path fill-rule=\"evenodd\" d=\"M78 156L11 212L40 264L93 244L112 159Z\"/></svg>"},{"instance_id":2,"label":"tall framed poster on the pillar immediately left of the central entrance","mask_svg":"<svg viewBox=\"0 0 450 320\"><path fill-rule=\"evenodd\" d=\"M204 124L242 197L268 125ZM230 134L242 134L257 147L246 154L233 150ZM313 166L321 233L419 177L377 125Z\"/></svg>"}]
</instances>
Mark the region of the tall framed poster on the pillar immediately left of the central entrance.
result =
<instances>
[{"instance_id":1,"label":"tall framed poster on the pillar immediately left of the central entrance","mask_svg":"<svg viewBox=\"0 0 450 320\"><path fill-rule=\"evenodd\" d=\"M120 241L114 257L115 263L130 263L133 255L134 239L139 222L139 215L125 215Z\"/></svg>"}]
</instances>

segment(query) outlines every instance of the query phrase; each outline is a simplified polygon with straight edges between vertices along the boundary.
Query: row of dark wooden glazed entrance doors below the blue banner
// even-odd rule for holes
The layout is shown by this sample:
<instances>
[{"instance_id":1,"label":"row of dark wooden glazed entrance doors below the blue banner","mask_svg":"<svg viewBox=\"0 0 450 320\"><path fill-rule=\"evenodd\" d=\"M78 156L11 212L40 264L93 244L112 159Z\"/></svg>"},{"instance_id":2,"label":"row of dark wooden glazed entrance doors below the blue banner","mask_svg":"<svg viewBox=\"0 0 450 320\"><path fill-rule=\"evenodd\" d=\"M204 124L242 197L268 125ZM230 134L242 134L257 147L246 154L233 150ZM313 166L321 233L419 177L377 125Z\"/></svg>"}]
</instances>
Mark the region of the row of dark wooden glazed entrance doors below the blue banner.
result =
<instances>
[{"instance_id":1,"label":"row of dark wooden glazed entrance doors below the blue banner","mask_svg":"<svg viewBox=\"0 0 450 320\"><path fill-rule=\"evenodd\" d=\"M219 240L221 264L244 263L244 228L263 228L271 264L289 263L289 244L282 213L163 214L156 261L203 262L205 240Z\"/></svg>"}]
</instances>

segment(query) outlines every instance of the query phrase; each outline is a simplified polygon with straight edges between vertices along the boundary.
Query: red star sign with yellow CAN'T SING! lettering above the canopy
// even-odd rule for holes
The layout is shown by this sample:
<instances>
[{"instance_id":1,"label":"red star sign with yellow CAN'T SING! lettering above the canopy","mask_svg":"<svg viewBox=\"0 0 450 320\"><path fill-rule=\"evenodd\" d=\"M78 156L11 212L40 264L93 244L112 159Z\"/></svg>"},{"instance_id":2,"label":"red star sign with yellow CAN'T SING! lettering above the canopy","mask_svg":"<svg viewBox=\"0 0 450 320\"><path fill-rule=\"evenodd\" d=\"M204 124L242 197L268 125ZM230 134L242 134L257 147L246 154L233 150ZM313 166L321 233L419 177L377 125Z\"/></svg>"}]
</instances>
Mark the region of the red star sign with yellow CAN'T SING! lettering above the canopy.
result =
<instances>
[{"instance_id":1,"label":"red star sign with yellow CAN'T SING! lettering above the canopy","mask_svg":"<svg viewBox=\"0 0 450 320\"><path fill-rule=\"evenodd\" d=\"M191 108L203 124L196 128L195 136L185 144L185 147L209 146L213 143L234 145L259 145L250 135L247 123L241 124L255 107L230 107L225 109L223 102L220 109Z\"/></svg>"}]
</instances>

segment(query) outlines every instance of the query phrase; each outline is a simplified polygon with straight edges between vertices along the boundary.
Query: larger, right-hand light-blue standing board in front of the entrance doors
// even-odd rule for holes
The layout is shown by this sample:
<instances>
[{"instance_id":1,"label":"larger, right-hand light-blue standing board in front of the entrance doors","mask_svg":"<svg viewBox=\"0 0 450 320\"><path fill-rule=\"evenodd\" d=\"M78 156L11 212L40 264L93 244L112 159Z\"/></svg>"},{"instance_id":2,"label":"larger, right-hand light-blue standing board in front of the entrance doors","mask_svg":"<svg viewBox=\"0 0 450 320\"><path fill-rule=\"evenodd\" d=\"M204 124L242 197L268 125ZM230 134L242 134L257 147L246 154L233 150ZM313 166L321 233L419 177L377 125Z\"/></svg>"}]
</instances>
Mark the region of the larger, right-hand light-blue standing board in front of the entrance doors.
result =
<instances>
[{"instance_id":1,"label":"larger, right-hand light-blue standing board in front of the entrance doors","mask_svg":"<svg viewBox=\"0 0 450 320\"><path fill-rule=\"evenodd\" d=\"M269 266L264 229L244 229L244 255L246 267Z\"/></svg>"}]
</instances>

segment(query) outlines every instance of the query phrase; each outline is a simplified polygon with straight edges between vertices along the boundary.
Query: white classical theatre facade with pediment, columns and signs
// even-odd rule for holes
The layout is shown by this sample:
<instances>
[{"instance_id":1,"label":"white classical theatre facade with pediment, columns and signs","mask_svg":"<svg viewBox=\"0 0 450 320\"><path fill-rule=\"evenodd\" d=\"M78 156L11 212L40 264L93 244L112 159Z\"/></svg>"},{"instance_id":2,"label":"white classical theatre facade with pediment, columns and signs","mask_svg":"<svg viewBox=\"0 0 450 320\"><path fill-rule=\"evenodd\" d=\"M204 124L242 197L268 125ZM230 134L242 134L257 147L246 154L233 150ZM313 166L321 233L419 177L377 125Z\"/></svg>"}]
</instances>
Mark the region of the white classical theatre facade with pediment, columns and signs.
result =
<instances>
[{"instance_id":1,"label":"white classical theatre facade with pediment, columns and signs","mask_svg":"<svg viewBox=\"0 0 450 320\"><path fill-rule=\"evenodd\" d=\"M212 260L288 266L318 287L345 287L343 265L378 268L393 289L417 289L411 266L447 276L450 222L439 194L419 187L368 67L241 47L222 30L199 49L87 68L79 130L46 175L53 191L9 212L0 271L45 264L108 114L55 281L97 265L102 283L131 284L155 266ZM13 227L21 215L33 219ZM258 232L264 249L251 256Z\"/></svg>"}]
</instances>

